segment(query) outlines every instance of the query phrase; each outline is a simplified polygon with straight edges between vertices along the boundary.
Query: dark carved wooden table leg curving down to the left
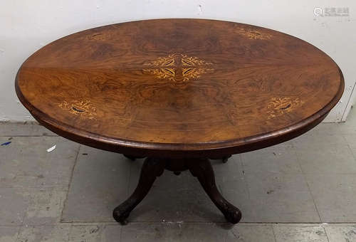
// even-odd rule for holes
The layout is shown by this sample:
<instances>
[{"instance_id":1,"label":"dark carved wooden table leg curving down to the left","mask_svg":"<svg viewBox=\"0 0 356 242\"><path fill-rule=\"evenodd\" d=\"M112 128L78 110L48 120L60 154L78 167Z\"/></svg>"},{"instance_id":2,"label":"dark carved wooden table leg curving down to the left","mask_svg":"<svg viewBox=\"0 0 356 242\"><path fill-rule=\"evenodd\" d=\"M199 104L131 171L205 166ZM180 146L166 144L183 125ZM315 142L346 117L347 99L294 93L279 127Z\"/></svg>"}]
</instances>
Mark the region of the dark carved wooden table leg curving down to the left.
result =
<instances>
[{"instance_id":1,"label":"dark carved wooden table leg curving down to the left","mask_svg":"<svg viewBox=\"0 0 356 242\"><path fill-rule=\"evenodd\" d=\"M162 175L163 171L164 161L150 157L145 159L135 191L126 201L117 206L112 212L112 216L117 222L122 225L127 223L126 219L130 215L132 209L135 209L135 206L140 204L142 199L145 198L156 177Z\"/></svg>"}]
</instances>

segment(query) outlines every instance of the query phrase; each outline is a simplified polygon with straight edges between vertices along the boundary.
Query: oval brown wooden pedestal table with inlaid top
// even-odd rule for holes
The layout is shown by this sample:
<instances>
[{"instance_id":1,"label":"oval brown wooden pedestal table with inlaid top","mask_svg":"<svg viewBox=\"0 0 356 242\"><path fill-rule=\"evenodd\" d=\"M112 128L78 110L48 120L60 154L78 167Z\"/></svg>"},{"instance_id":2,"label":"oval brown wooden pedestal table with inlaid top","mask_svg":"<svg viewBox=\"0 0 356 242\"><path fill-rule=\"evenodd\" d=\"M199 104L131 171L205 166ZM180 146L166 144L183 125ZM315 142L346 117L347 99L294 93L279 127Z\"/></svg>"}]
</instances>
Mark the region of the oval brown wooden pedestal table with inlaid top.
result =
<instances>
[{"instance_id":1,"label":"oval brown wooden pedestal table with inlaid top","mask_svg":"<svg viewBox=\"0 0 356 242\"><path fill-rule=\"evenodd\" d=\"M147 157L137 188L113 211L120 223L164 169L189 169L227 221L238 223L241 212L216 188L209 158L226 162L303 134L343 90L340 68L315 46L268 28L201 19L74 33L34 53L16 75L19 100L49 130Z\"/></svg>"}]
</instances>

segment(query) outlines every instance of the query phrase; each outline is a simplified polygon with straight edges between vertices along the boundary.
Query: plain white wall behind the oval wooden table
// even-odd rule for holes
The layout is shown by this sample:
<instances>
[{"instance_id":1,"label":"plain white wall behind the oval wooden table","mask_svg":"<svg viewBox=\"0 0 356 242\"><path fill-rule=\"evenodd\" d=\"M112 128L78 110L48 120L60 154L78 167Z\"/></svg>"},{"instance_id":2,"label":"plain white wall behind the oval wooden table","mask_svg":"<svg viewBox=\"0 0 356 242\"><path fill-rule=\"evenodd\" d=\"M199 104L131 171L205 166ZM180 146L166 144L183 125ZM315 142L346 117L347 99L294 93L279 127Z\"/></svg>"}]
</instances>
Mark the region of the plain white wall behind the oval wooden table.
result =
<instances>
[{"instance_id":1,"label":"plain white wall behind the oval wooden table","mask_svg":"<svg viewBox=\"0 0 356 242\"><path fill-rule=\"evenodd\" d=\"M315 7L348 7L350 16L315 16ZM47 43L69 33L110 23L200 18L273 28L302 38L328 53L340 66L346 82L341 102L326 120L339 122L345 120L356 81L355 12L355 0L0 0L0 120L32 120L16 98L14 78L21 63Z\"/></svg>"}]
</instances>

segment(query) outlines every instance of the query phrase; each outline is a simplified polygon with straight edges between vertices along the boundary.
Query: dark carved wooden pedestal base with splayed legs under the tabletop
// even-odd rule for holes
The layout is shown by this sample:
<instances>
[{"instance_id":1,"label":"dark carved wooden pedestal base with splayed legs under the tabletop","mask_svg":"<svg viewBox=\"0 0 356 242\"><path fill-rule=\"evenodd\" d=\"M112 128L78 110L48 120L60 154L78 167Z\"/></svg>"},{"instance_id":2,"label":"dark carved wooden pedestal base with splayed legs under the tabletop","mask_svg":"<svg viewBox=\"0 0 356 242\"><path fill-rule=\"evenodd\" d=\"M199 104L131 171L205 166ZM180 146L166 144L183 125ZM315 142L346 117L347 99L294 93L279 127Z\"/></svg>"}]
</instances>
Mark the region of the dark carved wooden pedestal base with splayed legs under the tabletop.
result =
<instances>
[{"instance_id":1,"label":"dark carved wooden pedestal base with splayed legs under the tabletop","mask_svg":"<svg viewBox=\"0 0 356 242\"><path fill-rule=\"evenodd\" d=\"M197 177L211 201L224 214L226 220L230 223L239 223L241 211L220 194L215 184L214 171L209 159L157 159L152 157L145 159L135 191L114 209L112 215L117 222L127 223L130 212L145 198L156 177L162 175L164 169L168 169L174 174L180 174L180 172L189 169L192 175Z\"/></svg>"}]
</instances>

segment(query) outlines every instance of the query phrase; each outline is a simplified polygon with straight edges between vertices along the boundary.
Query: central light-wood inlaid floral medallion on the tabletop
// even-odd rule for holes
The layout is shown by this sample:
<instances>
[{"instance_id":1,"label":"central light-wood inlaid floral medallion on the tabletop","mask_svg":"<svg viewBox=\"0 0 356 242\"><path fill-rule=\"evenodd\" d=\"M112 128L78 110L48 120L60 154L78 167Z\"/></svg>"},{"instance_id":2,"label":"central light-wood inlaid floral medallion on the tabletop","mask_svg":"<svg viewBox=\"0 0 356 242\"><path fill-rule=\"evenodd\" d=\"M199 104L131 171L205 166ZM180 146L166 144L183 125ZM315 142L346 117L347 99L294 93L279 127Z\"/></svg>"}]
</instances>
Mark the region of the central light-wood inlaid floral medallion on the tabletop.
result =
<instances>
[{"instance_id":1,"label":"central light-wood inlaid floral medallion on the tabletop","mask_svg":"<svg viewBox=\"0 0 356 242\"><path fill-rule=\"evenodd\" d=\"M170 80L173 85L185 85L188 80L200 78L204 73L214 70L210 68L213 63L180 53L159 57L144 65L147 68L143 71L156 78Z\"/></svg>"}]
</instances>

